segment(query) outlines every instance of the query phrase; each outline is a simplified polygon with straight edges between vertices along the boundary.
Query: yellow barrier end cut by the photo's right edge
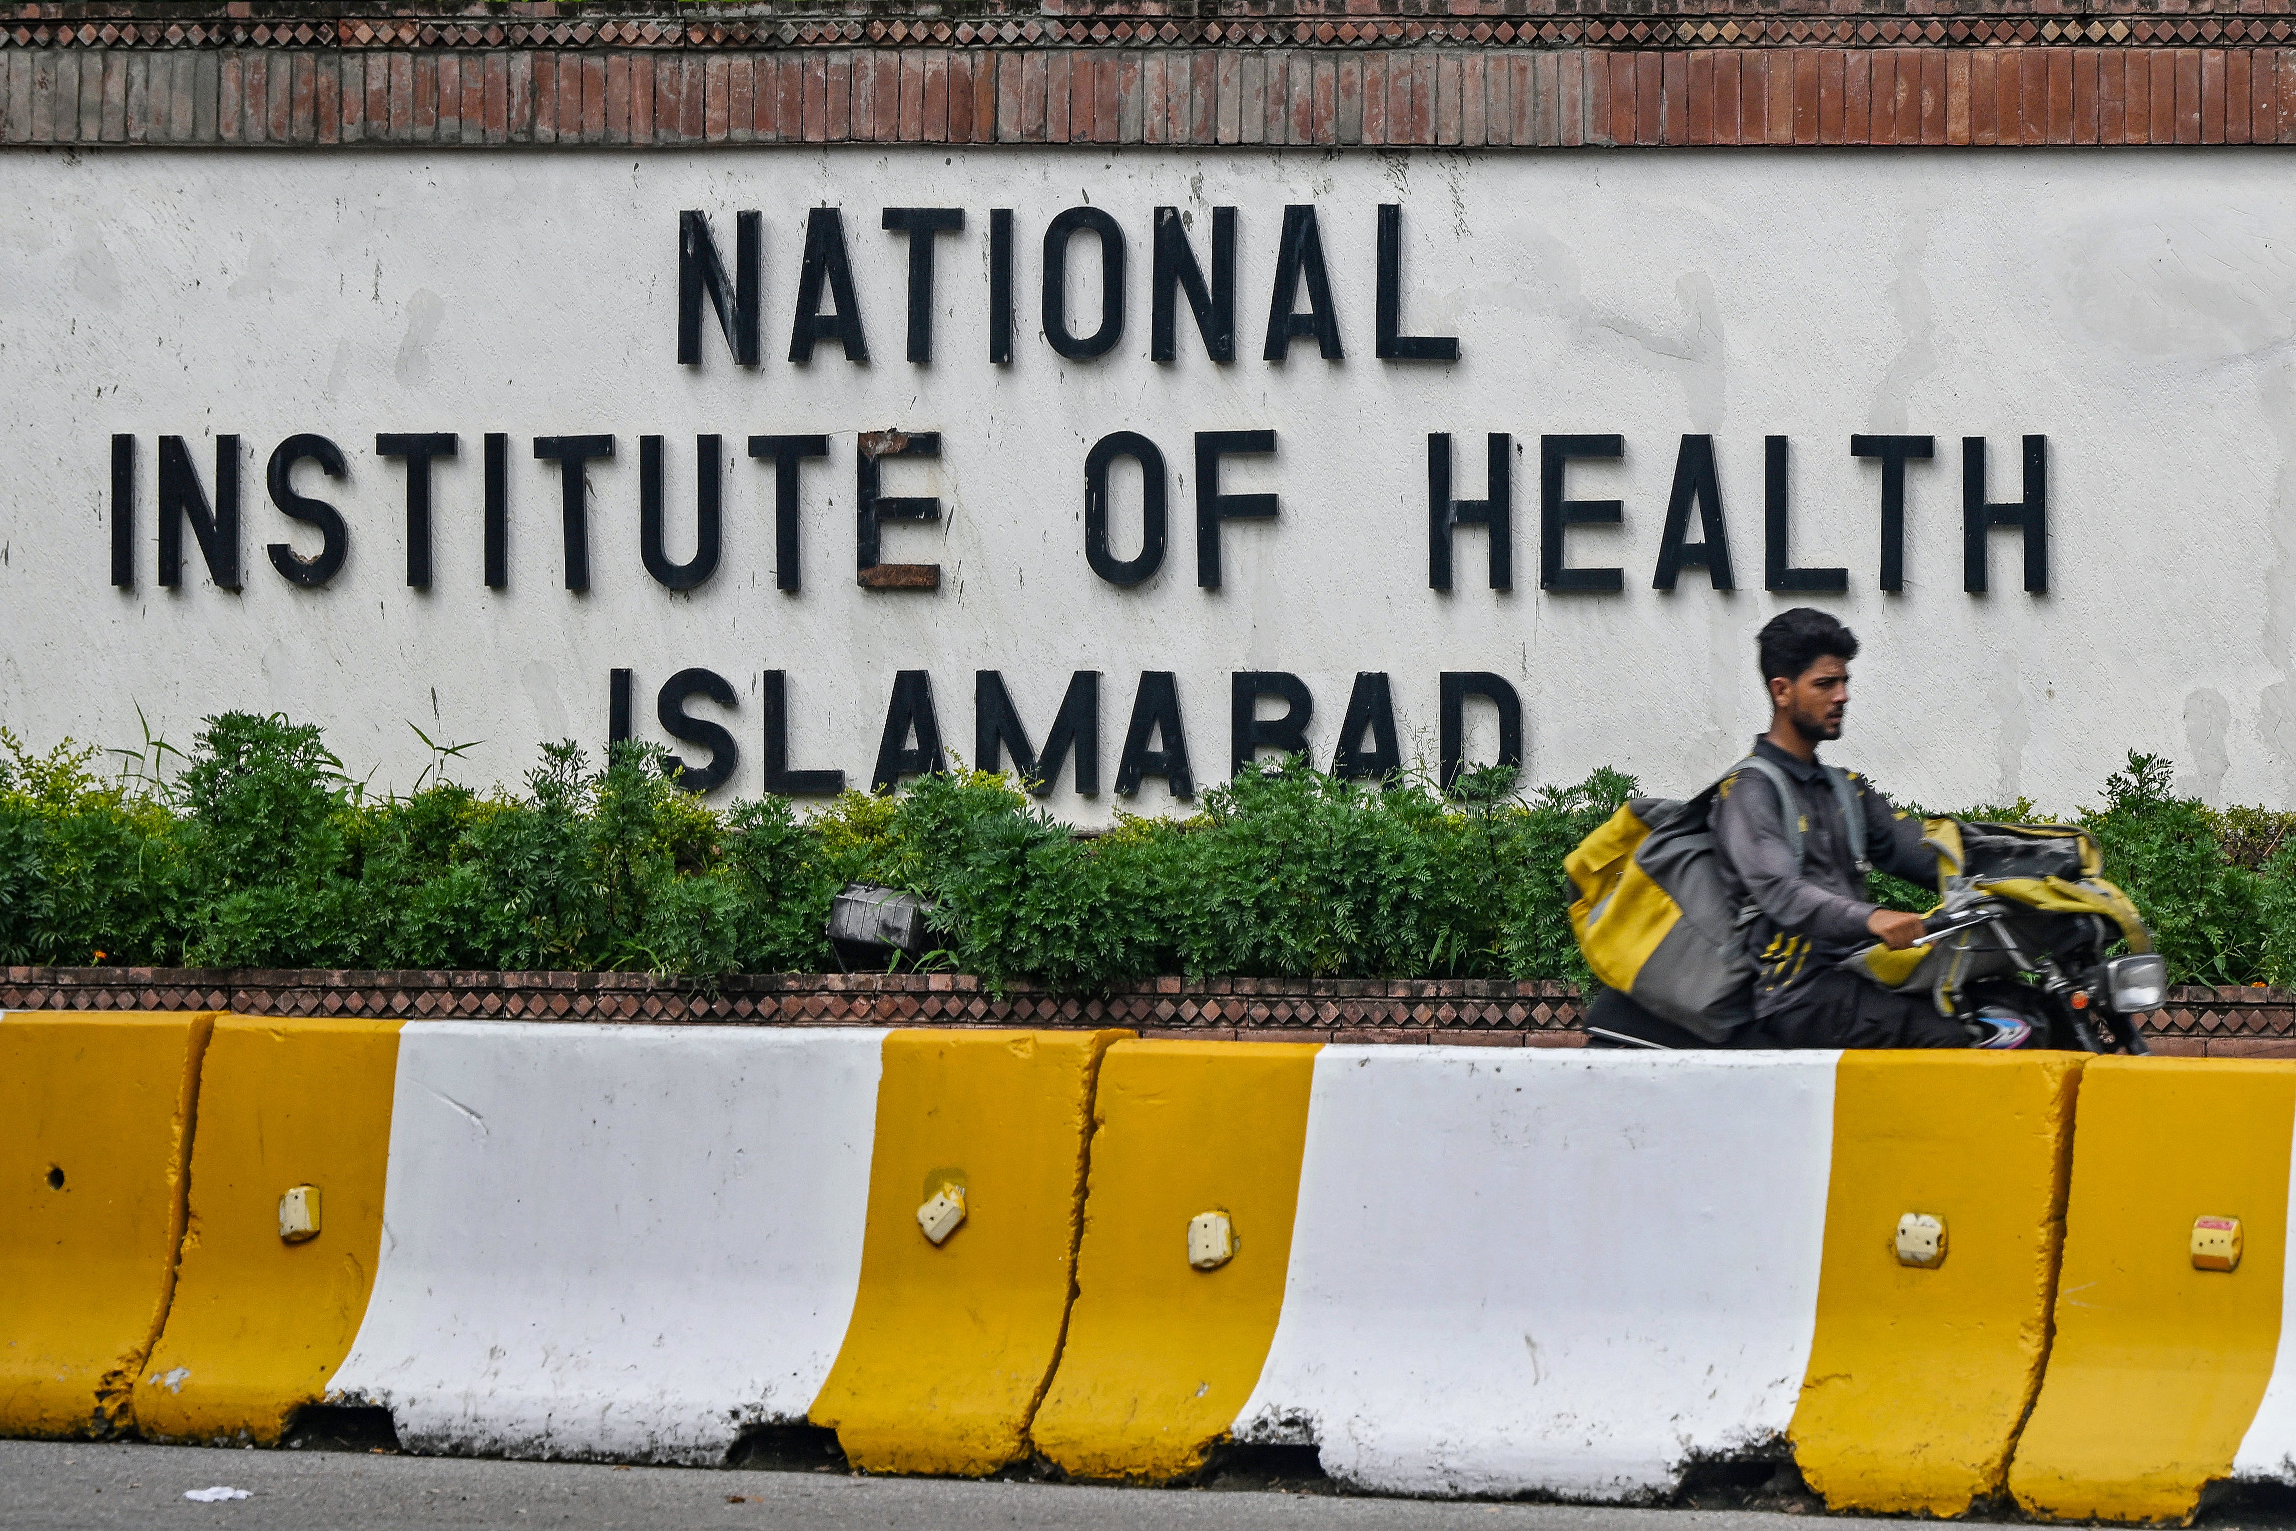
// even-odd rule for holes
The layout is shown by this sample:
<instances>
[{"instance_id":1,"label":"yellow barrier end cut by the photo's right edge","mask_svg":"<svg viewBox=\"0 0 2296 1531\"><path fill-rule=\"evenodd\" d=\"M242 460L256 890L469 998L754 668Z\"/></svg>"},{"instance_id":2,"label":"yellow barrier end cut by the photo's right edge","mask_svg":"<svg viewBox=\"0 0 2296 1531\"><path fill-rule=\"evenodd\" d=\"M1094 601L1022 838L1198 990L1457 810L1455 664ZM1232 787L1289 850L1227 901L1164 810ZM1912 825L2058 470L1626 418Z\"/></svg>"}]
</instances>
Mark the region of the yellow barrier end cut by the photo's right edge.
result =
<instances>
[{"instance_id":1,"label":"yellow barrier end cut by the photo's right edge","mask_svg":"<svg viewBox=\"0 0 2296 1531\"><path fill-rule=\"evenodd\" d=\"M2055 1520L2183 1522L2280 1347L2296 1065L2101 1058L2080 1086L2057 1338L2009 1487ZM2193 1265L2236 1217L2239 1269Z\"/></svg>"}]
</instances>

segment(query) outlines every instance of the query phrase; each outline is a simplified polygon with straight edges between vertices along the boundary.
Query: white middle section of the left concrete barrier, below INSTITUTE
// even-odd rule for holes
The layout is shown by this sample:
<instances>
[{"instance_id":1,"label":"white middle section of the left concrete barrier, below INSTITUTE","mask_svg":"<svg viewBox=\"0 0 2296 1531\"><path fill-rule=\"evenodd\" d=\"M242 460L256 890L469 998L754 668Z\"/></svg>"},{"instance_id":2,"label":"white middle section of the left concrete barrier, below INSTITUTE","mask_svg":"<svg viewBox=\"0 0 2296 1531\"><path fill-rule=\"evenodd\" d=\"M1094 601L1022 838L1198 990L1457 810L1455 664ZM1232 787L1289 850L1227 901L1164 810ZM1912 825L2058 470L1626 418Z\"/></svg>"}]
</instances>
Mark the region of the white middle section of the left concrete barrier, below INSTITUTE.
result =
<instances>
[{"instance_id":1,"label":"white middle section of the left concrete barrier, below INSTITUTE","mask_svg":"<svg viewBox=\"0 0 2296 1531\"><path fill-rule=\"evenodd\" d=\"M861 1281L882 1031L411 1021L331 1396L418 1451L719 1462Z\"/></svg>"}]
</instances>

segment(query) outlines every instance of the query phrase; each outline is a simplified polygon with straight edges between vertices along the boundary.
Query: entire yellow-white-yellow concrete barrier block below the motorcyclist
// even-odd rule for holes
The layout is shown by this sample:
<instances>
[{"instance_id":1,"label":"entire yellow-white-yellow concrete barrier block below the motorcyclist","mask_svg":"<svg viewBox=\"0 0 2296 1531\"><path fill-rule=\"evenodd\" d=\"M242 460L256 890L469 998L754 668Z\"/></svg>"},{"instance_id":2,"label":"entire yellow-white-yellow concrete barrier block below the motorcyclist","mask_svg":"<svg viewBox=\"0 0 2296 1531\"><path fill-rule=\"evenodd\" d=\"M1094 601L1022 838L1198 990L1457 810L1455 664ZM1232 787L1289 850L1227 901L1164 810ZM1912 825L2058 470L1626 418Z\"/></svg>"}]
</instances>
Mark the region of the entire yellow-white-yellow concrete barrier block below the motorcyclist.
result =
<instances>
[{"instance_id":1,"label":"entire yellow-white-yellow concrete barrier block below the motorcyclist","mask_svg":"<svg viewBox=\"0 0 2296 1531\"><path fill-rule=\"evenodd\" d=\"M2041 1380L2080 1060L1127 1042L1038 1451L1231 1439L1410 1494L1637 1501L1784 1458L1835 1510L1998 1494ZM1240 1237L1212 1269L1182 1230ZM1899 1258L1908 1212L1949 1258Z\"/></svg>"}]
</instances>

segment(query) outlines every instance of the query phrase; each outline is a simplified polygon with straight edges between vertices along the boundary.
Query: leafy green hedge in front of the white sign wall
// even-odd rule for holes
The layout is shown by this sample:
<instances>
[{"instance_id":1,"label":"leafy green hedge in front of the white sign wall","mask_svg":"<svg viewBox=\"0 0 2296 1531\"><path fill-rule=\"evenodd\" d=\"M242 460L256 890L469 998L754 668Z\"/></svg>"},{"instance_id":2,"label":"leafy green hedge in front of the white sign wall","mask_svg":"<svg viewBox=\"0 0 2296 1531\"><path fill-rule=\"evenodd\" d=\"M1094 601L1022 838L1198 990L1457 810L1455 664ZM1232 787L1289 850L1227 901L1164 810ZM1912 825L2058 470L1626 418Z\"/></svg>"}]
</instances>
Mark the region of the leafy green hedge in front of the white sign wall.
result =
<instances>
[{"instance_id":1,"label":"leafy green hedge in front of the white sign wall","mask_svg":"<svg viewBox=\"0 0 2296 1531\"><path fill-rule=\"evenodd\" d=\"M1150 973L1580 978L1564 854L1635 783L1596 771L1518 792L1511 771L1350 785L1290 762L1208 792L1189 819L1079 836L999 776L937 776L817 813L714 810L652 746L592 767L544 751L526 790L351 780L317 728L209 718L193 748L0 728L0 962L333 969L833 966L829 897L879 881L937 904L928 959L992 982L1104 989ZM2296 976L2289 815L2177 799L2131 755L2080 815L2188 982ZM2032 817L2030 803L1963 817ZM1922 891L1885 888L1901 907Z\"/></svg>"}]
</instances>

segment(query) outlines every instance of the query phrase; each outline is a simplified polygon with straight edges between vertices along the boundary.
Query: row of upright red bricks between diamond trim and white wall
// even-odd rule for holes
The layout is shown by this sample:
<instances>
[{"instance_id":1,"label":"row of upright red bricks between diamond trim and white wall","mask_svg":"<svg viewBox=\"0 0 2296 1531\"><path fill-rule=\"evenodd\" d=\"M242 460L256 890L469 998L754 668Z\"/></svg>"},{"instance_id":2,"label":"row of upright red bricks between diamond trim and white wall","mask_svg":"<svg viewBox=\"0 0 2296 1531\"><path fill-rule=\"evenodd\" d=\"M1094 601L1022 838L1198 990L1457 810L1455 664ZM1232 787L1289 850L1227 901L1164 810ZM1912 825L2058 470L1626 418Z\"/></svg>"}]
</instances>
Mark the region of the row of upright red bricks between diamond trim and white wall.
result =
<instances>
[{"instance_id":1,"label":"row of upright red bricks between diamond trim and white wall","mask_svg":"<svg viewBox=\"0 0 2296 1531\"><path fill-rule=\"evenodd\" d=\"M792 21L783 25L799 30L788 39L726 50L602 41L280 50L276 37L264 46L103 44L113 25L73 28L76 39L90 34L96 46L41 46L41 25L0 21L0 147L1492 151L2296 142L2296 46L2280 46L2296 44L2287 16L2177 23L2183 30L2163 34L2177 46L2043 46L2039 34L2007 46L1890 46L1878 41L1883 32L1876 41L1857 32L1848 46L1752 46L1761 41L1752 21L1713 18L1623 46L1589 44L1596 23L1580 18L1568 23L1570 37L1552 39L1522 39L1511 21L1474 21L1465 34L1444 21L1453 32L1437 34L1426 30L1433 21L1412 18L1398 37L1378 28L1362 34L1350 21L1302 21L1311 30L1304 41L1254 32L1176 44L1162 39L1162 28L1132 44L1102 41L1114 32L1097 21L1081 41L1017 34L1015 44L1001 28L1022 23L999 23L994 37L969 32L969 21L934 21L923 34L893 23L898 37L868 41L866 28L859 39L845 37L859 23L820 23L836 37L813 37L804 25L815 23ZM1325 44L1334 25L1352 41ZM1632 23L1637 34L1649 25ZM2016 25L2030 28L2032 18ZM948 41L939 41L944 30ZM1699 44L1708 32L1715 41ZM2216 46L2234 37L2262 46Z\"/></svg>"}]
</instances>

